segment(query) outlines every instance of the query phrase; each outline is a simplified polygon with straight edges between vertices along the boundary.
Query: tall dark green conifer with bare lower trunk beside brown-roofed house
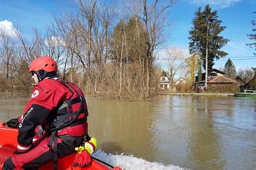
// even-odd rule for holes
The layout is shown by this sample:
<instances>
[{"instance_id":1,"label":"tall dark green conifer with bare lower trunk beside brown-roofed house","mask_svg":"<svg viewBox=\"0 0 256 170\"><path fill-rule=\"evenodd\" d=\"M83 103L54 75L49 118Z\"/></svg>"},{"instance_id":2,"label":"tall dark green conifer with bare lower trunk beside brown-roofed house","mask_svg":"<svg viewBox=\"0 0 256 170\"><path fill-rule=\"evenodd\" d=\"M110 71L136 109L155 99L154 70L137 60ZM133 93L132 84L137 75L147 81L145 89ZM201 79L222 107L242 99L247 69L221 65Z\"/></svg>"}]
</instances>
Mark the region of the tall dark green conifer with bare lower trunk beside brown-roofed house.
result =
<instances>
[{"instance_id":1,"label":"tall dark green conifer with bare lower trunk beside brown-roofed house","mask_svg":"<svg viewBox=\"0 0 256 170\"><path fill-rule=\"evenodd\" d=\"M225 57L227 53L220 51L228 39L223 38L219 34L225 30L225 26L221 26L222 21L218 20L217 11L212 11L209 5L205 6L204 11L201 7L195 11L195 18L192 21L193 27L189 31L189 53L197 54L201 57L202 65L205 69L205 87L207 82L208 71L212 70L214 60Z\"/></svg>"}]
</instances>

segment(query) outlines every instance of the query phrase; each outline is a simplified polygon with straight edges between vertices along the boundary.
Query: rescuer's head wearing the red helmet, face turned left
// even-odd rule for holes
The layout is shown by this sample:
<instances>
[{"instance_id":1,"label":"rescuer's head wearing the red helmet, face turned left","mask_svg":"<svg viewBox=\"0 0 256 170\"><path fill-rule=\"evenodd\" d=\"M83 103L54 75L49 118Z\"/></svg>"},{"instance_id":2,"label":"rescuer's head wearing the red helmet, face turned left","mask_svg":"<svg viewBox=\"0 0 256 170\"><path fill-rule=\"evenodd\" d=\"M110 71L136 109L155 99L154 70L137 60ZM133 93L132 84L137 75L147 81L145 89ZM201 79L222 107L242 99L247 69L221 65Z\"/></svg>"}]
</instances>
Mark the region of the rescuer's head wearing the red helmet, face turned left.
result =
<instances>
[{"instance_id":1,"label":"rescuer's head wearing the red helmet, face turned left","mask_svg":"<svg viewBox=\"0 0 256 170\"><path fill-rule=\"evenodd\" d=\"M38 83L44 80L45 77L56 77L57 64L52 57L37 57L30 64L29 73L32 74L34 82Z\"/></svg>"}]
</instances>

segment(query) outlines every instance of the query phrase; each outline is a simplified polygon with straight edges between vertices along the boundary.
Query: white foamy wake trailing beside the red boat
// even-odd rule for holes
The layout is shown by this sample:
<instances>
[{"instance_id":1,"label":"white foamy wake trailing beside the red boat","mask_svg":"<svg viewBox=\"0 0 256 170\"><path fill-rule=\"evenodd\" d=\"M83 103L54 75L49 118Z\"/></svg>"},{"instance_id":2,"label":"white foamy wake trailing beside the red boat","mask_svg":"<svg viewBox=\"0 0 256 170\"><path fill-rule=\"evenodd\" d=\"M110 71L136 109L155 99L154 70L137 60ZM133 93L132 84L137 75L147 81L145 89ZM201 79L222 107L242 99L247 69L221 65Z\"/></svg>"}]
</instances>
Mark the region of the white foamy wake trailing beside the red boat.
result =
<instances>
[{"instance_id":1,"label":"white foamy wake trailing beside the red boat","mask_svg":"<svg viewBox=\"0 0 256 170\"><path fill-rule=\"evenodd\" d=\"M163 165L160 162L148 162L145 159L139 159L133 155L112 155L107 154L101 150L97 150L93 154L97 159L107 162L110 165L117 165L123 170L134 170L134 169L149 169L149 170L184 170L175 165Z\"/></svg>"}]
</instances>

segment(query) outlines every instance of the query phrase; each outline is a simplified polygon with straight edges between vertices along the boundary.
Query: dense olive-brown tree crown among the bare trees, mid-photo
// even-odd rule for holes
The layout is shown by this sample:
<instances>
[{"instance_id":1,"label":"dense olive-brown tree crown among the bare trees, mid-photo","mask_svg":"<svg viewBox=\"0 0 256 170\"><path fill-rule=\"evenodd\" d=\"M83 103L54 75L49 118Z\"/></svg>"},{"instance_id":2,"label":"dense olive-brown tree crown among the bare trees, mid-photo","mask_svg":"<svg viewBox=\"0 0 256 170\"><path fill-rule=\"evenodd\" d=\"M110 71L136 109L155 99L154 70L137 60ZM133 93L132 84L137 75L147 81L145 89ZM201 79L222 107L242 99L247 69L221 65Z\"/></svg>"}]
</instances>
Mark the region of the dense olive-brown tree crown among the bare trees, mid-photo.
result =
<instances>
[{"instance_id":1,"label":"dense olive-brown tree crown among the bare trees, mid-photo","mask_svg":"<svg viewBox=\"0 0 256 170\"><path fill-rule=\"evenodd\" d=\"M146 36L148 35L137 18L130 18L127 23L121 20L114 28L110 45L113 62L119 63L120 60L123 64L141 62L146 57Z\"/></svg>"}]
</instances>

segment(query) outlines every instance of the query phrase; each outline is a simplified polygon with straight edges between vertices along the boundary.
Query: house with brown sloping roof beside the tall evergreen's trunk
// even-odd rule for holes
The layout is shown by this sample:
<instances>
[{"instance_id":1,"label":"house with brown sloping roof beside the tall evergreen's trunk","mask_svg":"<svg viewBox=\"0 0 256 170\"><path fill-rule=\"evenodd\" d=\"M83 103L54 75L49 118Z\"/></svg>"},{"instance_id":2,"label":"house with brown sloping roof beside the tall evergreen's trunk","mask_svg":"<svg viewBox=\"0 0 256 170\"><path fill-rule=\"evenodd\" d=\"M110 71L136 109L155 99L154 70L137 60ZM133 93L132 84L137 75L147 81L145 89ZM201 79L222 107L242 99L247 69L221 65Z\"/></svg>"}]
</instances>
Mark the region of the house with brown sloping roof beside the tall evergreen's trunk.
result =
<instances>
[{"instance_id":1,"label":"house with brown sloping roof beside the tall evergreen's trunk","mask_svg":"<svg viewBox=\"0 0 256 170\"><path fill-rule=\"evenodd\" d=\"M219 93L236 93L238 92L239 84L236 80L224 76L224 72L217 69L212 69L207 78L207 90ZM205 87L205 73L202 74L202 80L199 81L195 77L195 88L202 90Z\"/></svg>"}]
</instances>

